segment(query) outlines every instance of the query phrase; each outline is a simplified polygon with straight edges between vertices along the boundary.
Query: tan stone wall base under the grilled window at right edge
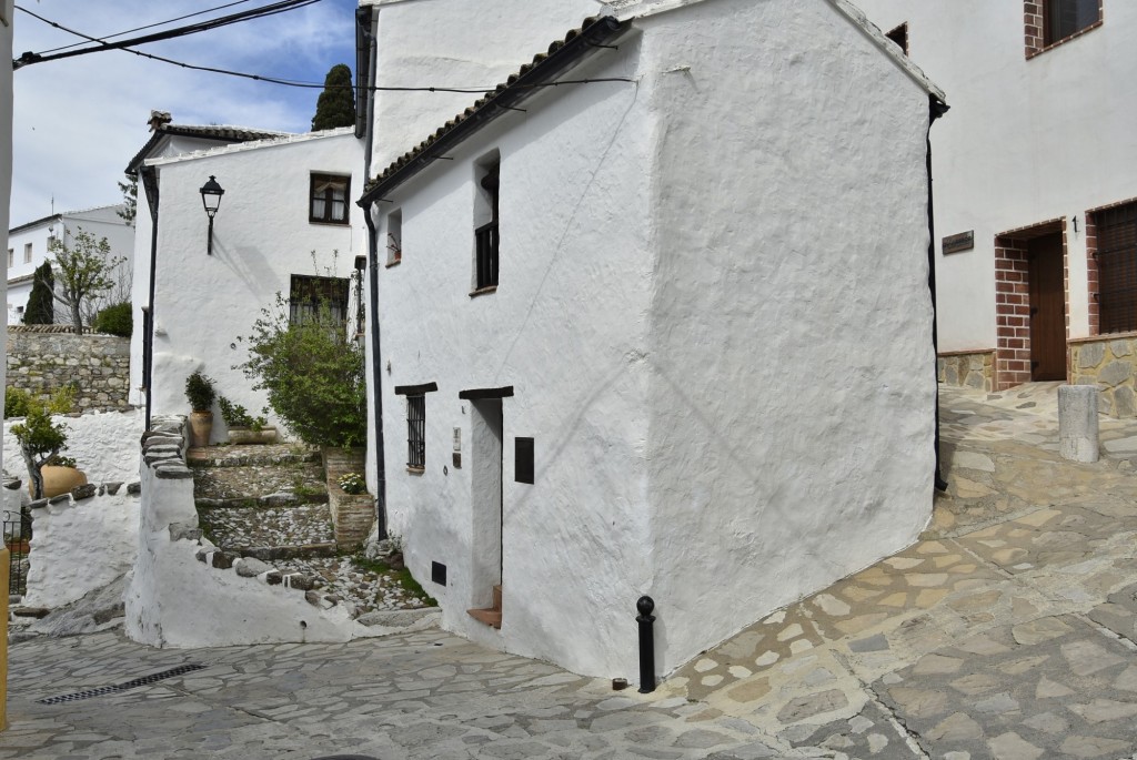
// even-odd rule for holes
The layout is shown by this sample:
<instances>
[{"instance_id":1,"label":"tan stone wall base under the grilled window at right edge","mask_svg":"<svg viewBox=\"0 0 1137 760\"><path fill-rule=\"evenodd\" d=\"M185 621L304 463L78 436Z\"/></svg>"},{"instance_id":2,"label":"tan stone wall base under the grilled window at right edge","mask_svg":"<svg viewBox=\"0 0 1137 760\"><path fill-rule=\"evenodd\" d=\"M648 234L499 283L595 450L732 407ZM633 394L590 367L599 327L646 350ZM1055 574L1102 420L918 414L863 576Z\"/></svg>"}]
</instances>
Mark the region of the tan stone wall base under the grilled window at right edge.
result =
<instances>
[{"instance_id":1,"label":"tan stone wall base under the grilled window at right edge","mask_svg":"<svg viewBox=\"0 0 1137 760\"><path fill-rule=\"evenodd\" d=\"M1070 342L1071 383L1097 385L1098 410L1111 417L1137 417L1134 362L1137 333Z\"/></svg>"}]
</instances>

